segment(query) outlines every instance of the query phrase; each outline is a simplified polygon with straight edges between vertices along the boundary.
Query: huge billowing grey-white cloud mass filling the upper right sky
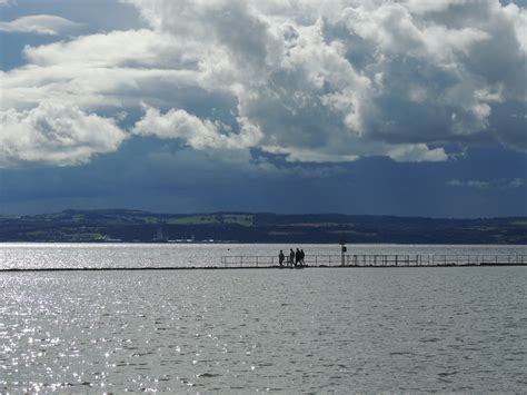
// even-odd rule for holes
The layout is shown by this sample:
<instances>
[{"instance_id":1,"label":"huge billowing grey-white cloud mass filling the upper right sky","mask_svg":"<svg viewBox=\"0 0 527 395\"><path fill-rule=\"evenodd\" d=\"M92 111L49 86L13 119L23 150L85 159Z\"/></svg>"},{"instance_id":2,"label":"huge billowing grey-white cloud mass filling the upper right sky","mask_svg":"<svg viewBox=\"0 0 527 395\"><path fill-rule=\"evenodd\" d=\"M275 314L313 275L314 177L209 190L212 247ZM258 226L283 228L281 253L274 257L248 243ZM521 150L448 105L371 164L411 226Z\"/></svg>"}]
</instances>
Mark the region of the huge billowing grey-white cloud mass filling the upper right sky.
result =
<instances>
[{"instance_id":1,"label":"huge billowing grey-white cloud mass filling the upper right sky","mask_svg":"<svg viewBox=\"0 0 527 395\"><path fill-rule=\"evenodd\" d=\"M264 147L289 151L291 159L444 160L444 150L430 151L428 144L486 140L496 130L514 147L525 140L518 128L499 130L490 117L494 107L526 99L518 89L525 85L519 27L526 12L515 4L131 2L155 30L198 37L231 59L221 65L221 78L207 59L201 66L211 81L230 82L240 115L262 128ZM226 37L226 28L245 31L252 50ZM228 73L229 67L239 72ZM503 67L516 71L496 73Z\"/></svg>"}]
</instances>

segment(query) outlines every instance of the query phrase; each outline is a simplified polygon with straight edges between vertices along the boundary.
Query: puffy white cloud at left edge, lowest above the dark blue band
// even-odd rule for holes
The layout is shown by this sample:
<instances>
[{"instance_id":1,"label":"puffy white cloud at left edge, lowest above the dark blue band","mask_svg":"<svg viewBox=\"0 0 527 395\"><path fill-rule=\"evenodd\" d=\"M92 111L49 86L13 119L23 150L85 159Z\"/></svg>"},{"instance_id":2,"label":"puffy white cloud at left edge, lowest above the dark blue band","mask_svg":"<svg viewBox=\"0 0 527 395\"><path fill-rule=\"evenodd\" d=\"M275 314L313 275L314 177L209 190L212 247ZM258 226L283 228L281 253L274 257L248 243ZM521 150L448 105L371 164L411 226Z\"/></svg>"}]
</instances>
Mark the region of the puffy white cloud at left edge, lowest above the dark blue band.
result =
<instances>
[{"instance_id":1,"label":"puffy white cloud at left edge, lowest above the dark blue band","mask_svg":"<svg viewBox=\"0 0 527 395\"><path fill-rule=\"evenodd\" d=\"M72 166L116 151L127 135L111 119L74 106L42 102L0 111L0 167L23 162Z\"/></svg>"}]
</instances>

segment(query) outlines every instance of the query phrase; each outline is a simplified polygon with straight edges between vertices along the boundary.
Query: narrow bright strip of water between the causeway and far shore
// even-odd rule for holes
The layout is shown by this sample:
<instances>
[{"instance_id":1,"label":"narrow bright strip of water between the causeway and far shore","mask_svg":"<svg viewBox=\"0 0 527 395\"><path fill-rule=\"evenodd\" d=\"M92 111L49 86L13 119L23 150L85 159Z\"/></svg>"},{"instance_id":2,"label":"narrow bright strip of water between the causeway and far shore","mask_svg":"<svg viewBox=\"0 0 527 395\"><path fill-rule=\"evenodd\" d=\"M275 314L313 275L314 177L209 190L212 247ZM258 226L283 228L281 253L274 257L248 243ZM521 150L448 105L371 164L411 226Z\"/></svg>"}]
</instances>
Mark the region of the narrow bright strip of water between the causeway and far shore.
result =
<instances>
[{"instance_id":1,"label":"narrow bright strip of water between the causeway and far shore","mask_svg":"<svg viewBox=\"0 0 527 395\"><path fill-rule=\"evenodd\" d=\"M221 266L221 256L278 256L280 249L302 248L309 255L340 254L338 245L307 244L0 244L0 269L60 267ZM348 254L516 255L526 246L348 245Z\"/></svg>"}]
</instances>

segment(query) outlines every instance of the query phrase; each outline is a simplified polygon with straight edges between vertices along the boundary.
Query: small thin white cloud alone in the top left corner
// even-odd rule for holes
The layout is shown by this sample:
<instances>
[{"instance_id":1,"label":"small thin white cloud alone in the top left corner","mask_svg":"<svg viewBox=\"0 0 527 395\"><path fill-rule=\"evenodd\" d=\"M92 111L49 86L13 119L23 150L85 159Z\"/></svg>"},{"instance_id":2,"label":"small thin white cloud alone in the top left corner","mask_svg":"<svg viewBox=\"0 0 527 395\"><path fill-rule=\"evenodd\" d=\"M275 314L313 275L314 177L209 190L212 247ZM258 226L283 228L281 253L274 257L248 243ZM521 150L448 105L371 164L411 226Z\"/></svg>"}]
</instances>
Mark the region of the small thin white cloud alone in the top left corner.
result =
<instances>
[{"instance_id":1,"label":"small thin white cloud alone in the top left corner","mask_svg":"<svg viewBox=\"0 0 527 395\"><path fill-rule=\"evenodd\" d=\"M7 4L9 4L9 2L7 2ZM79 23L74 23L61 17L40 14L21 17L10 22L0 22L0 31L57 36L79 26Z\"/></svg>"}]
</instances>

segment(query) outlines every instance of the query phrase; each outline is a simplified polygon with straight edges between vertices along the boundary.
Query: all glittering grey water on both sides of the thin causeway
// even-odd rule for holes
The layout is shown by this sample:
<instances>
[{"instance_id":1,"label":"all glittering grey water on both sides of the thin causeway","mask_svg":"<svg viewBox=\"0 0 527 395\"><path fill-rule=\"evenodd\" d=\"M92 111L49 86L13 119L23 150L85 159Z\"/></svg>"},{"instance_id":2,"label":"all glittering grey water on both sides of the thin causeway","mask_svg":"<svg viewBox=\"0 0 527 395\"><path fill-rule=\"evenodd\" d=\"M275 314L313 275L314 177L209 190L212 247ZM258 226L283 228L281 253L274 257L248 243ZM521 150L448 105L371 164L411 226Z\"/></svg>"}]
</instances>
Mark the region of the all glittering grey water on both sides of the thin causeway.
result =
<instances>
[{"instance_id":1,"label":"all glittering grey water on both sides of the thin causeway","mask_svg":"<svg viewBox=\"0 0 527 395\"><path fill-rule=\"evenodd\" d=\"M198 266L288 247L8 244L0 267ZM0 273L0 392L525 392L526 286L526 267Z\"/></svg>"}]
</instances>

